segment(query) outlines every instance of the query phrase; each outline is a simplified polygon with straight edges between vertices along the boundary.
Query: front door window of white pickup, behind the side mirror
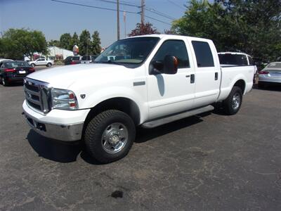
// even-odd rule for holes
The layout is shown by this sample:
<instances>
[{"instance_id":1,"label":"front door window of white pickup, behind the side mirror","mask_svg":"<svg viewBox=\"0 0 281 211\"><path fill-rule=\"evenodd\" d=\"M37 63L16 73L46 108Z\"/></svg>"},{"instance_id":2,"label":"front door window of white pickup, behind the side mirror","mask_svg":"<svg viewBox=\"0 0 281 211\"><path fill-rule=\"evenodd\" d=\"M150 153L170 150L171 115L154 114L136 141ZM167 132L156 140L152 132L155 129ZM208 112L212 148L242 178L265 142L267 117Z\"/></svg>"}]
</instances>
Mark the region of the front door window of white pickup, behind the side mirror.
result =
<instances>
[{"instance_id":1,"label":"front door window of white pickup, behind the side mirror","mask_svg":"<svg viewBox=\"0 0 281 211\"><path fill-rule=\"evenodd\" d=\"M184 41L182 40L167 40L158 49L152 62L163 63L167 55L176 56L178 58L178 68L189 68L188 51Z\"/></svg>"}]
</instances>

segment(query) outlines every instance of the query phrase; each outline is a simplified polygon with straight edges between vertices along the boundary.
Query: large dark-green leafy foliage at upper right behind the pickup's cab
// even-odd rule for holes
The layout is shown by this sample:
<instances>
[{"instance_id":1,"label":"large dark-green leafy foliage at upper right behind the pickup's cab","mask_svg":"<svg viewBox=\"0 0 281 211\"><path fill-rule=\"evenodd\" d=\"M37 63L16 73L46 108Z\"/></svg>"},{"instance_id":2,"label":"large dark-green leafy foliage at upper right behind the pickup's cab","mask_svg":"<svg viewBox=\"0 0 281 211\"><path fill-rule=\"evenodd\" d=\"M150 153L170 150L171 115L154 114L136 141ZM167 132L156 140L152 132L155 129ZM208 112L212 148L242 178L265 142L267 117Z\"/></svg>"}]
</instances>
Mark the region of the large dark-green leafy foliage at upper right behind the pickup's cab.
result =
<instances>
[{"instance_id":1,"label":"large dark-green leafy foliage at upper right behind the pickup's cab","mask_svg":"<svg viewBox=\"0 0 281 211\"><path fill-rule=\"evenodd\" d=\"M218 51L243 51L264 61L280 56L280 0L191 0L174 21L178 34L214 41Z\"/></svg>"}]
</instances>

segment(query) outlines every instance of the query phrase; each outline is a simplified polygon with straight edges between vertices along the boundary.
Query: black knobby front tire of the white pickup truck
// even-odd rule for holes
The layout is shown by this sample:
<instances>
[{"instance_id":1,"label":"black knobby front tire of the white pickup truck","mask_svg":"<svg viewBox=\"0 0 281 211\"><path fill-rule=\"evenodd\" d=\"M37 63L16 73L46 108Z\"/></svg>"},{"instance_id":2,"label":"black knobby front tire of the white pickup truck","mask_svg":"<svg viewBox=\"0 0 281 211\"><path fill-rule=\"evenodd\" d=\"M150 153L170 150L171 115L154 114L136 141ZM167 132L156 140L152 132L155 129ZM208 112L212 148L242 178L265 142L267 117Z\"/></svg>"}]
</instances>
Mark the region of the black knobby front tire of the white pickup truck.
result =
<instances>
[{"instance_id":1,"label":"black knobby front tire of the white pickup truck","mask_svg":"<svg viewBox=\"0 0 281 211\"><path fill-rule=\"evenodd\" d=\"M112 145L111 143L109 144L109 141L105 141L103 139L108 140L108 137L113 137L112 134L115 130L112 129L113 132L110 132L108 129L113 124L122 124L126 129L127 138L120 151L109 153L109 149L105 149L105 146ZM110 133L110 135L105 136L106 132ZM120 136L117 136L120 142ZM93 117L89 124L87 124L84 132L84 141L87 151L93 158L96 158L96 160L101 163L108 163L124 158L129 153L131 146L133 145L133 141L135 140L135 136L136 127L129 115L119 110L105 110L96 115L96 117ZM105 144L105 142L107 142L107 144ZM114 150L113 146L112 150Z\"/></svg>"}]
</instances>

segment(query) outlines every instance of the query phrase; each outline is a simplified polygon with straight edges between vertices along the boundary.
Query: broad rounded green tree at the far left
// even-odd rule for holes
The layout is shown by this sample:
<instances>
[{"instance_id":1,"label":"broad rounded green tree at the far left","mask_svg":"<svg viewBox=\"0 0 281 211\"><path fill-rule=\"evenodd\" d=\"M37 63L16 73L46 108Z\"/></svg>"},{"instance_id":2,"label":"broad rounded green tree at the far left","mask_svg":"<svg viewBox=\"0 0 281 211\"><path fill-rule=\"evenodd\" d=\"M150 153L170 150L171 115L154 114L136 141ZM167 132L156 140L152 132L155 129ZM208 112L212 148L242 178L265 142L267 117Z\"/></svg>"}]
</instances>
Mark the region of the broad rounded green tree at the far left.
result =
<instances>
[{"instance_id":1,"label":"broad rounded green tree at the far left","mask_svg":"<svg viewBox=\"0 0 281 211\"><path fill-rule=\"evenodd\" d=\"M9 29L1 39L2 56L22 60L24 56L32 59L35 52L48 54L47 42L42 32L37 30Z\"/></svg>"}]
</instances>

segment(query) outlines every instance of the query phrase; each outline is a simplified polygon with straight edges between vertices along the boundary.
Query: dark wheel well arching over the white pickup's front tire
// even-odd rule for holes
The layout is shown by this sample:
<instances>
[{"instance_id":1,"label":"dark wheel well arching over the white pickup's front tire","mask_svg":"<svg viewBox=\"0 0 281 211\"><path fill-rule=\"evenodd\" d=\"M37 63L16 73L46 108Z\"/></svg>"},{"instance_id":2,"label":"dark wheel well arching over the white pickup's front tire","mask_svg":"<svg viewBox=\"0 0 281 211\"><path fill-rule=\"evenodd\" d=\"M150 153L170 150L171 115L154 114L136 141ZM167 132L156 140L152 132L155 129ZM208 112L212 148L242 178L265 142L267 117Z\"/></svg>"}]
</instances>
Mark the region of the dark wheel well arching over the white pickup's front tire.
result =
<instances>
[{"instance_id":1,"label":"dark wheel well arching over the white pickup's front tire","mask_svg":"<svg viewBox=\"0 0 281 211\"><path fill-rule=\"evenodd\" d=\"M140 122L141 114L137 104L129 98L120 97L107 99L106 101L98 103L98 105L91 108L91 111L86 117L85 123L88 124L94 116L98 115L98 113L110 109L121 110L126 113L132 118L136 125Z\"/></svg>"}]
</instances>

